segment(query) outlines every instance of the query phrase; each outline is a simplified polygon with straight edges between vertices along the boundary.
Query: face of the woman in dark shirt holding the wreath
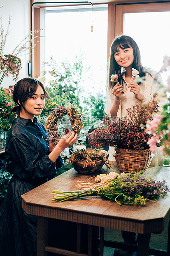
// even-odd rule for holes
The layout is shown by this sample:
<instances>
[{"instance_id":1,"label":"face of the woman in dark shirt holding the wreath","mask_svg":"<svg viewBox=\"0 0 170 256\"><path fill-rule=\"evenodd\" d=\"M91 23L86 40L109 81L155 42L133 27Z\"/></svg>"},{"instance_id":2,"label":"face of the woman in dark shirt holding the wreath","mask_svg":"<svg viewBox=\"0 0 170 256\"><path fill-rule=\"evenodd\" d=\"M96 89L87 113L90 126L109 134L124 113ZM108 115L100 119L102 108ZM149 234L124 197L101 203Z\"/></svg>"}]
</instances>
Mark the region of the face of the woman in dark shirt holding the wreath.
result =
<instances>
[{"instance_id":1,"label":"face of the woman in dark shirt holding the wreath","mask_svg":"<svg viewBox=\"0 0 170 256\"><path fill-rule=\"evenodd\" d=\"M44 98L44 91L40 85L37 86L37 90L34 95L32 95L26 102L24 102L23 107L21 106L20 117L24 119L31 119L35 115L39 116L44 108L45 98Z\"/></svg>"}]
</instances>

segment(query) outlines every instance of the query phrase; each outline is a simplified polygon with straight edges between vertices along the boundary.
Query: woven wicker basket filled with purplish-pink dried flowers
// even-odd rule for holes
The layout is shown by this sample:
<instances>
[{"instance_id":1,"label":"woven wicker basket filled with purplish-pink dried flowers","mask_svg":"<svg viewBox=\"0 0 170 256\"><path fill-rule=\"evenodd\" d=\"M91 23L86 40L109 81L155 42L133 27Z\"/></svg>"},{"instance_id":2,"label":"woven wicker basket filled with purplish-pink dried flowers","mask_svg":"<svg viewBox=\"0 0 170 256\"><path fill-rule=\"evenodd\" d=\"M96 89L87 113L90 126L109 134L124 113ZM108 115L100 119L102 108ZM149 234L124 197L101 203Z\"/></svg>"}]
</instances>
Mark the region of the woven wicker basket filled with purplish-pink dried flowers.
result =
<instances>
[{"instance_id":1,"label":"woven wicker basket filled with purplish-pink dried flowers","mask_svg":"<svg viewBox=\"0 0 170 256\"><path fill-rule=\"evenodd\" d=\"M92 147L116 148L116 163L121 172L146 170L151 163L152 154L149 150L146 123L158 112L156 94L149 106L143 102L127 109L127 117L110 120L103 118L103 124L88 135Z\"/></svg>"}]
</instances>

